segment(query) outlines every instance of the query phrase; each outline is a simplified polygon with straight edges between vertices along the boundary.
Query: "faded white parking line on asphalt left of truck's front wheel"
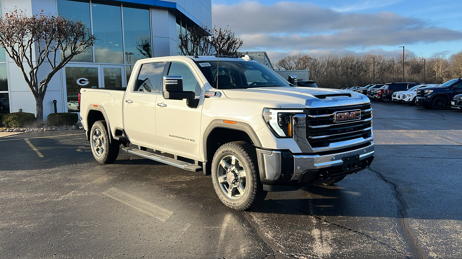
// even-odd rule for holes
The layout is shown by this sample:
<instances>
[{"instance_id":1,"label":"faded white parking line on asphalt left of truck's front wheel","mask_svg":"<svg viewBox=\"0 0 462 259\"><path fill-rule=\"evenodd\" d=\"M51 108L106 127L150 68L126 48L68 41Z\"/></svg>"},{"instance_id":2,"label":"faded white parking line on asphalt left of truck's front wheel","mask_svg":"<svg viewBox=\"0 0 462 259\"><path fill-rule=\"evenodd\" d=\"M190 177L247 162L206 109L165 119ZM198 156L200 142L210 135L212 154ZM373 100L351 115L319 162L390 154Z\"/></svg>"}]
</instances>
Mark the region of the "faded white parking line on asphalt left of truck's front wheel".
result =
<instances>
[{"instance_id":1,"label":"faded white parking line on asphalt left of truck's front wheel","mask_svg":"<svg viewBox=\"0 0 462 259\"><path fill-rule=\"evenodd\" d=\"M170 217L171 214L173 214L173 212L170 212L164 208L156 206L147 202L146 200L142 200L126 192L122 192L116 188L109 188L107 191L103 192L103 194L164 222Z\"/></svg>"}]
</instances>

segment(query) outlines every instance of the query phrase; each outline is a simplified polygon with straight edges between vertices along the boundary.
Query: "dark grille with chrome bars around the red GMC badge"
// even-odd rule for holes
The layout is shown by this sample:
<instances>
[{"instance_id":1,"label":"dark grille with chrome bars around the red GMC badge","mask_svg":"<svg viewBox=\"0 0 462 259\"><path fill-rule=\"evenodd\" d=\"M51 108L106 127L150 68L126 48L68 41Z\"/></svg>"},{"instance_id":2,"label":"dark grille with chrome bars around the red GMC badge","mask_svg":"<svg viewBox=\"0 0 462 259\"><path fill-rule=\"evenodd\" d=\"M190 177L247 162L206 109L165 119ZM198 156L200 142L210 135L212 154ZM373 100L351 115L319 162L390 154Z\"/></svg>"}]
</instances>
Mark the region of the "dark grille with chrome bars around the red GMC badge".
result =
<instances>
[{"instance_id":1,"label":"dark grille with chrome bars around the red GMC badge","mask_svg":"<svg viewBox=\"0 0 462 259\"><path fill-rule=\"evenodd\" d=\"M361 110L361 119L334 123L334 112ZM368 138L372 135L371 104L306 109L306 137L310 146L328 147L330 143Z\"/></svg>"}]
</instances>

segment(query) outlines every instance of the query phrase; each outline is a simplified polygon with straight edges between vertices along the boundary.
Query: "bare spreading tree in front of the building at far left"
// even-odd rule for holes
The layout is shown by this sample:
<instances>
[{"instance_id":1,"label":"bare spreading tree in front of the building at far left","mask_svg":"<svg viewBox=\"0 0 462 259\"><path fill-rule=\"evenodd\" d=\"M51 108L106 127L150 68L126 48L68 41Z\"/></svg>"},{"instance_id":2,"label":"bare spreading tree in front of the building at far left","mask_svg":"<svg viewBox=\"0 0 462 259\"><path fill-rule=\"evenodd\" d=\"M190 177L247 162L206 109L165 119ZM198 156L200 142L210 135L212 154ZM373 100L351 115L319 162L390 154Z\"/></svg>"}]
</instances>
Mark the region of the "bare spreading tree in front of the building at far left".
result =
<instances>
[{"instance_id":1,"label":"bare spreading tree in front of the building at far left","mask_svg":"<svg viewBox=\"0 0 462 259\"><path fill-rule=\"evenodd\" d=\"M81 21L44 15L43 10L32 16L15 10L0 18L0 45L19 67L34 95L38 124L43 123L43 98L51 78L95 40ZM51 71L39 82L38 69L43 64L49 64Z\"/></svg>"}]
</instances>

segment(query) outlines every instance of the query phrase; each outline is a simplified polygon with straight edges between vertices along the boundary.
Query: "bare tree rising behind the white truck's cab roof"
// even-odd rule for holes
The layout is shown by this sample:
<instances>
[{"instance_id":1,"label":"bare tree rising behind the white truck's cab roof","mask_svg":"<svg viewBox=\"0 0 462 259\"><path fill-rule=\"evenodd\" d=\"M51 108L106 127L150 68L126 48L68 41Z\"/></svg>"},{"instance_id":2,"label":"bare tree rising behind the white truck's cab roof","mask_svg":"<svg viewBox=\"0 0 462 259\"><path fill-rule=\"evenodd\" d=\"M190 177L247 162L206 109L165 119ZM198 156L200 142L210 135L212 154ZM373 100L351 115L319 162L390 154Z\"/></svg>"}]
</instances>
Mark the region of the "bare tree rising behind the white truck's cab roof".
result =
<instances>
[{"instance_id":1,"label":"bare tree rising behind the white truck's cab roof","mask_svg":"<svg viewBox=\"0 0 462 259\"><path fill-rule=\"evenodd\" d=\"M233 30L213 27L202 29L190 27L186 32L178 36L178 48L180 54L193 55L229 55L239 54L239 49L243 46L243 39Z\"/></svg>"}]
</instances>

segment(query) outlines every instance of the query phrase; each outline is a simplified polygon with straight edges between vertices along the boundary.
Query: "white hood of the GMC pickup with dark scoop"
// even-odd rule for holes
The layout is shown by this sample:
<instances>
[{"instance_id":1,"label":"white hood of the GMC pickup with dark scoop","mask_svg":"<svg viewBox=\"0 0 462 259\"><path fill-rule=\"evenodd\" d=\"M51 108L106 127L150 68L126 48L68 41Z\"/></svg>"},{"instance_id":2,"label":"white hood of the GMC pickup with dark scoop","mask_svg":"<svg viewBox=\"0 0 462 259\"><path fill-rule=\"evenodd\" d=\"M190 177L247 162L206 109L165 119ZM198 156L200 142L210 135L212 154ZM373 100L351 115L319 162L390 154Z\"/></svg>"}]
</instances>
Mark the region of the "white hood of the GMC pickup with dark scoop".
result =
<instances>
[{"instance_id":1,"label":"white hood of the GMC pickup with dark scoop","mask_svg":"<svg viewBox=\"0 0 462 259\"><path fill-rule=\"evenodd\" d=\"M311 87L259 87L224 89L231 99L277 103L281 108L318 108L369 103L364 94L353 91Z\"/></svg>"}]
</instances>

